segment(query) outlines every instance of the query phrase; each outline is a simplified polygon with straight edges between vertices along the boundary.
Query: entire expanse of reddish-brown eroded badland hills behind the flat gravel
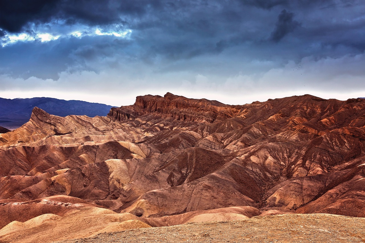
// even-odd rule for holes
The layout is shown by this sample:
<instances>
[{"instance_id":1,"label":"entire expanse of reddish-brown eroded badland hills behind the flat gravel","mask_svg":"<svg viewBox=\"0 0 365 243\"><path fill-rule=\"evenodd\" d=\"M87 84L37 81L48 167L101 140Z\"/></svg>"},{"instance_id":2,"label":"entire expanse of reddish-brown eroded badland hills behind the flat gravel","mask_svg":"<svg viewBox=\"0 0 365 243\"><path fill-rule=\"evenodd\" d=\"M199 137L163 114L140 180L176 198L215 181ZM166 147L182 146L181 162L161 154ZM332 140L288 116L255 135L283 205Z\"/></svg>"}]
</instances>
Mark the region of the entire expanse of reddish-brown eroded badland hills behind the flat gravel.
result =
<instances>
[{"instance_id":1,"label":"entire expanse of reddish-brown eroded badland hills behind the flat gravel","mask_svg":"<svg viewBox=\"0 0 365 243\"><path fill-rule=\"evenodd\" d=\"M92 118L34 108L0 134L0 241L280 213L365 217L364 146L364 99L225 105L167 93Z\"/></svg>"}]
</instances>

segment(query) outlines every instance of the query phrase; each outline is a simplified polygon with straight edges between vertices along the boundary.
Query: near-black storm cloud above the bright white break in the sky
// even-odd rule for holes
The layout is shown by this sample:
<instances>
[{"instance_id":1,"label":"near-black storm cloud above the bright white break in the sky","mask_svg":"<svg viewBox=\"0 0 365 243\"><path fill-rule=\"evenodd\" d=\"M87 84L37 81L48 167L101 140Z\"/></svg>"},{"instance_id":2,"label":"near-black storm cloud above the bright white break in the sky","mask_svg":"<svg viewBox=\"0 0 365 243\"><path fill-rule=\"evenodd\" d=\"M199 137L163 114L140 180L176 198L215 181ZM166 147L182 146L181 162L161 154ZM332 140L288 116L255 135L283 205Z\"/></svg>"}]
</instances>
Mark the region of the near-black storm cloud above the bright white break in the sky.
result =
<instances>
[{"instance_id":1,"label":"near-black storm cloud above the bright white break in the sky","mask_svg":"<svg viewBox=\"0 0 365 243\"><path fill-rule=\"evenodd\" d=\"M51 20L91 25L123 23L123 14L143 15L160 5L157 0L1 0L0 28L20 32L29 23L50 23Z\"/></svg>"}]
</instances>

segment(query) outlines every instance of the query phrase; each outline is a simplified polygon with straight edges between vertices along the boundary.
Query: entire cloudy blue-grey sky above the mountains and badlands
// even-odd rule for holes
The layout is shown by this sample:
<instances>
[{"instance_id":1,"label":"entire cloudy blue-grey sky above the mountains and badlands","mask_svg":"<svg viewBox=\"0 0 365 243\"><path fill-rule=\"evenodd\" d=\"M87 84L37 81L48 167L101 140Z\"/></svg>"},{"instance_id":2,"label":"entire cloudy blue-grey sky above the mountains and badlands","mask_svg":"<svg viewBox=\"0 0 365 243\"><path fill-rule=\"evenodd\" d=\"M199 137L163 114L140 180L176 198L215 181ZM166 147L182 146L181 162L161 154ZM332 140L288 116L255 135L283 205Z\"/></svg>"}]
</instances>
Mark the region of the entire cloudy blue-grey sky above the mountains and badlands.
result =
<instances>
[{"instance_id":1,"label":"entire cloudy blue-grey sky above the mountains and badlands","mask_svg":"<svg viewBox=\"0 0 365 243\"><path fill-rule=\"evenodd\" d=\"M0 97L365 97L364 0L1 0Z\"/></svg>"}]
</instances>

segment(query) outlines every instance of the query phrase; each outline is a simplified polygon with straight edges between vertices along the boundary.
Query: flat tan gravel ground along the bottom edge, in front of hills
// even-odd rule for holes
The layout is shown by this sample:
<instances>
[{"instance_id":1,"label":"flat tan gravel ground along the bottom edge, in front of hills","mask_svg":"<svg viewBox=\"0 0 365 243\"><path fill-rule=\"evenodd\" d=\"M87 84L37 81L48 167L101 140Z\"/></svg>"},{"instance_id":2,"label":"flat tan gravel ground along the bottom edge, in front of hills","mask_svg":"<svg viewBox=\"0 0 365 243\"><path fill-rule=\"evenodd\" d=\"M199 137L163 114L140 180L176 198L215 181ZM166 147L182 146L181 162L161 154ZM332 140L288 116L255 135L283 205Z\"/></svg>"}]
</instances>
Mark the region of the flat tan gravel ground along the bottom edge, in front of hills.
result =
<instances>
[{"instance_id":1,"label":"flat tan gravel ground along the bottom edge, in front of hills","mask_svg":"<svg viewBox=\"0 0 365 243\"><path fill-rule=\"evenodd\" d=\"M328 214L255 216L248 220L130 229L57 243L365 242L365 218Z\"/></svg>"}]
</instances>

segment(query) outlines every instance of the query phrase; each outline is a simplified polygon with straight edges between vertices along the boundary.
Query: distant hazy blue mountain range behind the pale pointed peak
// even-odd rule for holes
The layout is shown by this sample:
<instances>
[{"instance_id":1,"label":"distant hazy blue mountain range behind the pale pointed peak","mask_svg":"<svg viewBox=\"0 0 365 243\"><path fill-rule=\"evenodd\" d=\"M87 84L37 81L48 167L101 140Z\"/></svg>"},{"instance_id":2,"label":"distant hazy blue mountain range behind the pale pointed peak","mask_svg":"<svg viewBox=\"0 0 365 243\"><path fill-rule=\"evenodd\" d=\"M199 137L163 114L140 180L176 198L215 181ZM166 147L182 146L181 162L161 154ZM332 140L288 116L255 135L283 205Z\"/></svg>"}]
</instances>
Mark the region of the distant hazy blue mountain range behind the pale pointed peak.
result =
<instances>
[{"instance_id":1,"label":"distant hazy blue mountain range behind the pale pointed peak","mask_svg":"<svg viewBox=\"0 0 365 243\"><path fill-rule=\"evenodd\" d=\"M59 100L45 97L30 99L0 98L0 125L9 129L22 126L29 120L34 107L41 108L57 116L87 115L94 117L106 116L113 106L80 100Z\"/></svg>"}]
</instances>

